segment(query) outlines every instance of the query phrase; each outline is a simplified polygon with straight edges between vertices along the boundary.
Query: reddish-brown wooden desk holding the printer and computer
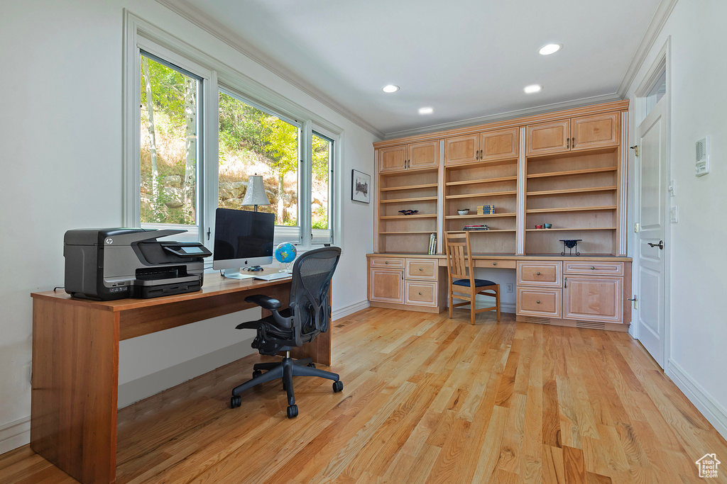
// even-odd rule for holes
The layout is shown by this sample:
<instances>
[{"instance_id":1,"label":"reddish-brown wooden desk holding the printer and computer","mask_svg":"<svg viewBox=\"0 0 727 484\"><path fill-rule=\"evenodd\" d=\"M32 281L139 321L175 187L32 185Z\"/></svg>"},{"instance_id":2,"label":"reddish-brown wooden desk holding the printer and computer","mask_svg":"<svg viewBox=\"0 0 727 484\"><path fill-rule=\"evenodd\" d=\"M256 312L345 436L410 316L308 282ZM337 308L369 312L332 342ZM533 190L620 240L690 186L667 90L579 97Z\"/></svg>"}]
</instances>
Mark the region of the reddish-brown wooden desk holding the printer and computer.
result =
<instances>
[{"instance_id":1,"label":"reddish-brown wooden desk holding the printer and computer","mask_svg":"<svg viewBox=\"0 0 727 484\"><path fill-rule=\"evenodd\" d=\"M81 483L116 482L119 341L257 307L244 301L252 294L285 306L289 292L290 279L218 274L206 274L201 291L153 299L101 302L33 292L31 448ZM330 365L330 334L294 357Z\"/></svg>"}]
</instances>

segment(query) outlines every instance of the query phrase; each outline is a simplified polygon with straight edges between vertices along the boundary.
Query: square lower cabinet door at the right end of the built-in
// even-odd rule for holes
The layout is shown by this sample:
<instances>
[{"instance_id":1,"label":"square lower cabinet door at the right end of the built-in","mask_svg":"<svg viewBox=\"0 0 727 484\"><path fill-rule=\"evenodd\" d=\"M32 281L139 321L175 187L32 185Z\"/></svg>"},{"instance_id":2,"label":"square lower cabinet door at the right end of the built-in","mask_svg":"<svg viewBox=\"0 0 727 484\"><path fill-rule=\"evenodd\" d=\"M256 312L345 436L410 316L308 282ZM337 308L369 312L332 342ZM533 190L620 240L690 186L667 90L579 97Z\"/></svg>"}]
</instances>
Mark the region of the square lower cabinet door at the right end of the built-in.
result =
<instances>
[{"instance_id":1,"label":"square lower cabinet door at the right end of the built-in","mask_svg":"<svg viewBox=\"0 0 727 484\"><path fill-rule=\"evenodd\" d=\"M622 323L622 277L566 276L563 318Z\"/></svg>"}]
</instances>

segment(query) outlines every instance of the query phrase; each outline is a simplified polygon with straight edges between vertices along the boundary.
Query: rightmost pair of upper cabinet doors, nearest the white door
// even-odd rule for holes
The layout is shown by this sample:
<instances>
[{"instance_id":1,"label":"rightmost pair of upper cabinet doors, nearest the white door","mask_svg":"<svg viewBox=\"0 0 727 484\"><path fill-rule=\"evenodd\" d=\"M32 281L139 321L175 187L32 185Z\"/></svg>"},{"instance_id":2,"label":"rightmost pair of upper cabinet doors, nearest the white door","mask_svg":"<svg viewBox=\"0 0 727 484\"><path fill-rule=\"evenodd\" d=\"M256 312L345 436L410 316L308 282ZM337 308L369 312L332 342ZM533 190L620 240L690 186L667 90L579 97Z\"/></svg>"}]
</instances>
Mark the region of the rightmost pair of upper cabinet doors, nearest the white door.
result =
<instances>
[{"instance_id":1,"label":"rightmost pair of upper cabinet doors, nearest the white door","mask_svg":"<svg viewBox=\"0 0 727 484\"><path fill-rule=\"evenodd\" d=\"M527 127L527 155L548 155L619 144L619 113L581 116Z\"/></svg>"}]
</instances>

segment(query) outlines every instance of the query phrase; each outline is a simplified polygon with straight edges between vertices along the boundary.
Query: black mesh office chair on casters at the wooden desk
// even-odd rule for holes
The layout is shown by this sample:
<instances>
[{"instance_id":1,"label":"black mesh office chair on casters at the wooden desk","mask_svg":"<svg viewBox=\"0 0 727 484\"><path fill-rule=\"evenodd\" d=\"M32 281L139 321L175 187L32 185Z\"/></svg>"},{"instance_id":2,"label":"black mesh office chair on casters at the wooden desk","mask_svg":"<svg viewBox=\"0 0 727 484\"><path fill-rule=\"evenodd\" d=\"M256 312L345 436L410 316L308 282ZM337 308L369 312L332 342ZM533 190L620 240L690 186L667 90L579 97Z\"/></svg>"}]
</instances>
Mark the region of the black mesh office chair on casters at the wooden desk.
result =
<instances>
[{"instance_id":1,"label":"black mesh office chair on casters at the wooden desk","mask_svg":"<svg viewBox=\"0 0 727 484\"><path fill-rule=\"evenodd\" d=\"M240 393L260 385L260 383L283 379L283 387L288 394L288 418L298 414L293 393L293 377L321 377L333 380L333 391L343 390L343 382L337 374L316 369L310 358L294 361L290 358L290 350L303 343L309 343L321 332L328 331L331 317L329 304L329 287L333 273L341 257L338 247L323 247L309 250L296 259L293 265L293 280L290 289L289 307L281 308L280 301L265 295L252 295L245 298L246 302L260 305L273 314L259 321L238 324L237 329L257 329L257 337L252 348L257 348L261 355L275 356L281 351L286 352L280 363L258 363L253 366L252 380L232 390L230 406L234 409L242 404ZM262 373L265 370L265 373Z\"/></svg>"}]
</instances>

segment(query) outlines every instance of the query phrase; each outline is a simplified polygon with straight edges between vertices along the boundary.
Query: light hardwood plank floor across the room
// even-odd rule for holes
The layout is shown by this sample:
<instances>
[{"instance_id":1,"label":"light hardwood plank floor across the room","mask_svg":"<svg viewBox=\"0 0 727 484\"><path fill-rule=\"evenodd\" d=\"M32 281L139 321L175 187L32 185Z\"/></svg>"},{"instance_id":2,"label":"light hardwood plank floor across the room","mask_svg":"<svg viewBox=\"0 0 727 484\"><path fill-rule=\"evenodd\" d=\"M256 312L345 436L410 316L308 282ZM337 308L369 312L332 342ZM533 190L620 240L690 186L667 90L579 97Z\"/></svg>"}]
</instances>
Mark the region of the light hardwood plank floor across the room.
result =
<instances>
[{"instance_id":1,"label":"light hardwood plank floor across the room","mask_svg":"<svg viewBox=\"0 0 727 484\"><path fill-rule=\"evenodd\" d=\"M333 371L229 408L257 355L119 411L118 483L702 483L727 443L625 333L469 311L334 323ZM28 446L0 483L73 483Z\"/></svg>"}]
</instances>

